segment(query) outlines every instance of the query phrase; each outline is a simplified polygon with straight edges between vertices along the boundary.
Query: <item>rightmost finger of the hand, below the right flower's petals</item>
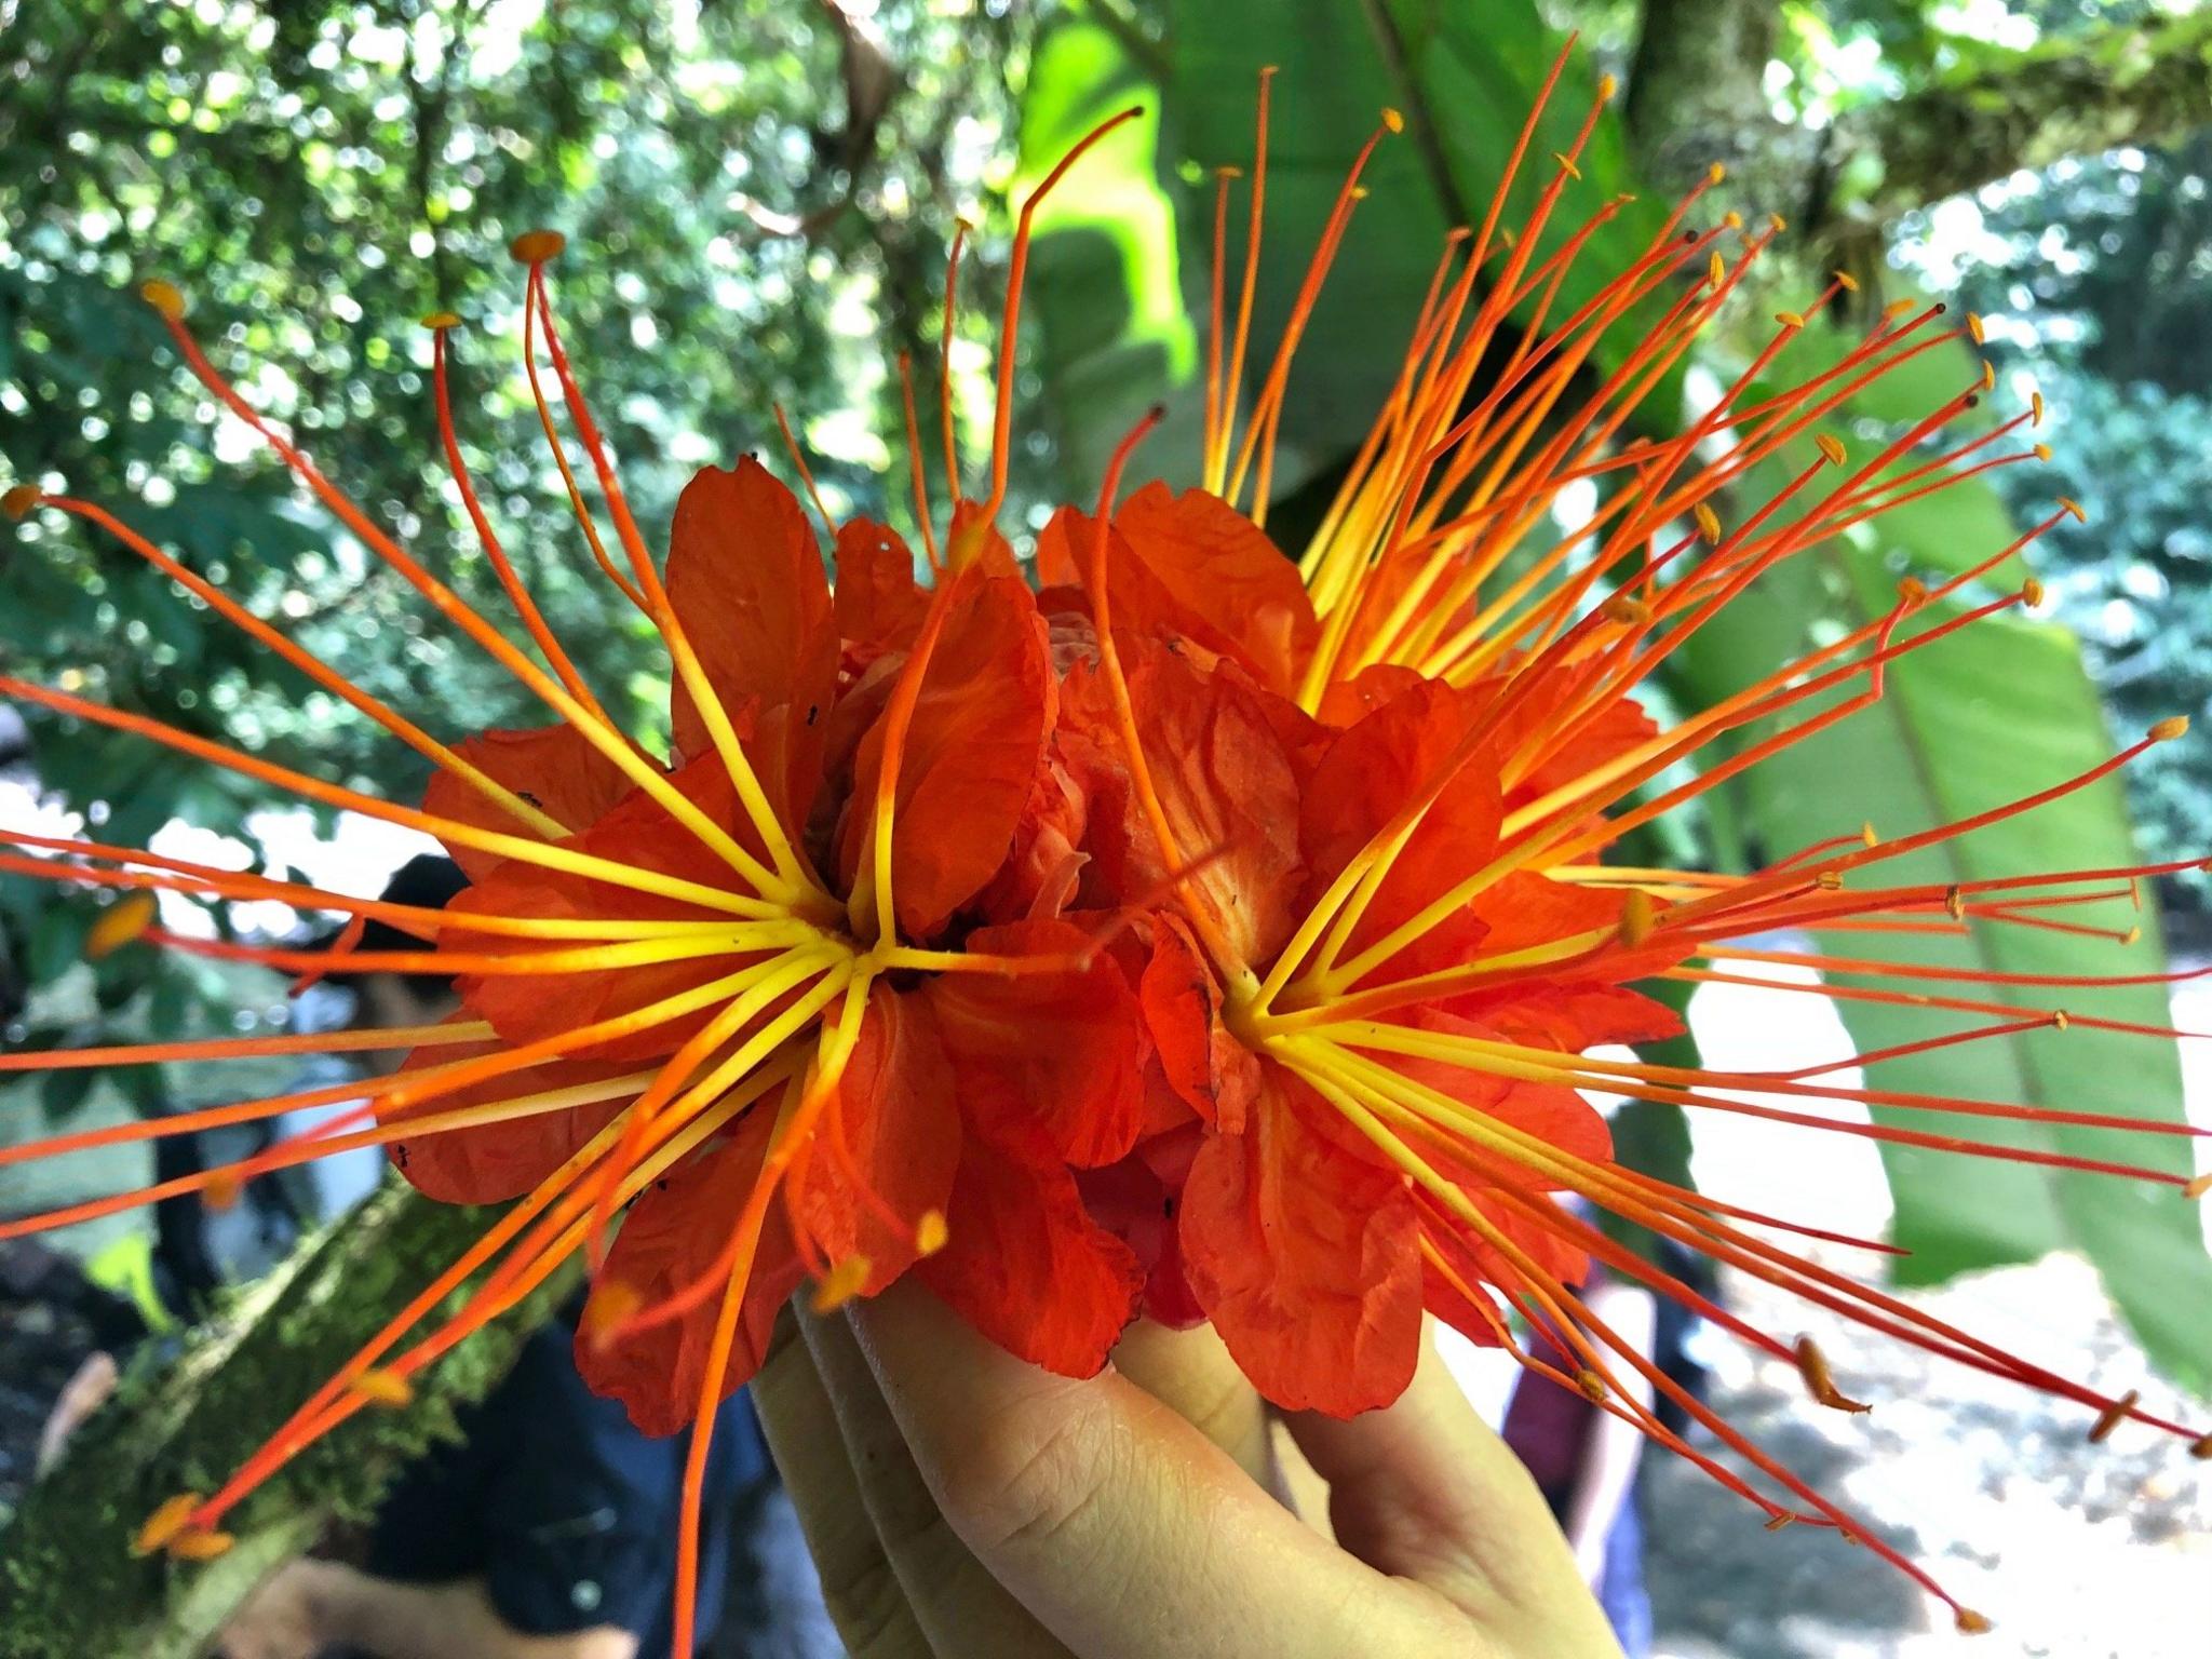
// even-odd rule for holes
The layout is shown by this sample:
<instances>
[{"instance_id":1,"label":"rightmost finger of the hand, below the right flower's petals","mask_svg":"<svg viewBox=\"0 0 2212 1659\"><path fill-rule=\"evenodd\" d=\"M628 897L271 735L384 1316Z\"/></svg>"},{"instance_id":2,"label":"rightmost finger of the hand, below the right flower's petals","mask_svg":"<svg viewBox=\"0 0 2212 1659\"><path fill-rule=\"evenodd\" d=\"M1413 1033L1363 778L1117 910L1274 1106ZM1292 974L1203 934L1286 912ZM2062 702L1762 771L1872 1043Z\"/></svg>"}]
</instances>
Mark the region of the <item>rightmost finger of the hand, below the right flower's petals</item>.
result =
<instances>
[{"instance_id":1,"label":"rightmost finger of the hand, below the right flower's petals","mask_svg":"<svg viewBox=\"0 0 2212 1659\"><path fill-rule=\"evenodd\" d=\"M1329 1482L1338 1544L1363 1562L1429 1586L1513 1652L1619 1652L1544 1493L1433 1343L1394 1405L1285 1425Z\"/></svg>"}]
</instances>

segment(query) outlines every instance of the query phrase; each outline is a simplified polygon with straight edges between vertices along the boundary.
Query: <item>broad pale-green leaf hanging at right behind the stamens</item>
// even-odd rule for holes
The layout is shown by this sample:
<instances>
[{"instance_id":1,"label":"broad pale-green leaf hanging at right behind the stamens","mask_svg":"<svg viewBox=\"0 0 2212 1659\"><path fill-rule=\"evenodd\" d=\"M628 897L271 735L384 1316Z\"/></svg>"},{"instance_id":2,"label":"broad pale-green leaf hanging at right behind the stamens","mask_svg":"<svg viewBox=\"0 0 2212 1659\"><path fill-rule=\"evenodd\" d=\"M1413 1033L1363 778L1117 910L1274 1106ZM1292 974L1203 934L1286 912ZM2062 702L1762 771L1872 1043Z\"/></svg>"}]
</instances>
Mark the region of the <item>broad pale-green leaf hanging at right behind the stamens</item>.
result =
<instances>
[{"instance_id":1,"label":"broad pale-green leaf hanging at right behind the stamens","mask_svg":"<svg viewBox=\"0 0 2212 1659\"><path fill-rule=\"evenodd\" d=\"M1772 573L1708 626L1677 668L1703 699L1719 697L1805 650L1818 628L1856 626L1885 613L1902 573L1958 571L2013 535L1991 491L1980 482L1960 484ZM2024 573L2024 566L2011 564L1995 580L2017 584ZM1763 849L1785 854L1847 834L1860 821L1871 821L1885 836L1902 836L1964 818L2086 772L2110 752L2073 637L2006 613L1902 659L1889 675L1882 703L1754 768L1739 785L1736 805ZM1882 865L1880 878L1964 883L2037 869L2117 867L2132 858L2126 803L2117 783L2106 779L2031 814ZM1834 933L1820 940L1820 949L1975 973L2157 973L2163 967L2157 916L2137 916L2124 900L2115 907L2121 911L2117 918L2093 916L2095 907L2084 907L2068 911L2068 920L2139 925L2143 931L2135 945L1978 925L1966 936L1880 938L1876 949L1869 949L1867 933ZM1931 989L2154 1026L2170 1020L2159 984ZM1863 1051L1973 1022L1973 1015L1878 1002L1843 1002L1838 1011ZM2185 1121L2179 1057L2170 1042L2093 1031L2079 1022L2066 1031L2053 1026L1882 1062L1871 1068L1869 1084L1955 1099L2124 1113L2157 1124ZM1902 1108L1878 1110L1876 1119L2177 1175L2192 1168L2190 1144L2179 1137ZM2201 1318L2201 1310L2212 1305L2212 1259L2205 1256L2194 1206L2174 1190L1905 1146L1885 1146L1882 1159L1896 1199L1896 1241L1913 1252L1898 1263L1902 1281L1933 1283L1971 1267L2033 1261L2057 1248L2079 1250L2097 1265L2146 1349L2194 1387L2212 1385L2212 1327Z\"/></svg>"}]
</instances>

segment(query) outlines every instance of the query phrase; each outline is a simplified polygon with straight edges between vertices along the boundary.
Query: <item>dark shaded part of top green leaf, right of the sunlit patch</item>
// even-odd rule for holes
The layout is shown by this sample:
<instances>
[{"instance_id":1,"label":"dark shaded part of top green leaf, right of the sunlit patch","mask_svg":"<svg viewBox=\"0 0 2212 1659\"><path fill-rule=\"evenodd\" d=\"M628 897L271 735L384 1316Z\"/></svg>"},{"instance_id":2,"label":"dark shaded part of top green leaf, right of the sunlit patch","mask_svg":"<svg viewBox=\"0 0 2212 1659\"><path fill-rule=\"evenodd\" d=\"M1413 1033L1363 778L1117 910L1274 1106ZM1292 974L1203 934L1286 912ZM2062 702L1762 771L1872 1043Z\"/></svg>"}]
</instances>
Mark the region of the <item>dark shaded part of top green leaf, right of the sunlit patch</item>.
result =
<instances>
[{"instance_id":1,"label":"dark shaded part of top green leaf, right of the sunlit patch","mask_svg":"<svg viewBox=\"0 0 2212 1659\"><path fill-rule=\"evenodd\" d=\"M1181 153L1203 168L1250 164L1252 100L1243 88L1256 86L1263 64L1281 69L1254 325L1261 343L1272 343L1290 319L1345 168L1380 111L1396 108L1407 122L1400 137L1378 146L1360 179L1367 199L1298 347L1294 385L1303 394L1283 414L1296 471L1298 451L1316 462L1343 453L1389 392L1444 234L1482 223L1562 38L1528 0L1179 0L1170 18L1168 113ZM1506 197L1506 226L1557 177L1553 153L1573 144L1593 97L1595 73L1577 55ZM1553 217L1551 246L1630 190L1617 122L1599 122L1579 173ZM1553 319L1568 316L1644 252L1659 219L1659 204L1644 199L1601 226L1566 274ZM1239 259L1241 237L1232 241L1232 268ZM1630 336L1624 327L1606 349L1626 352ZM1599 358L1615 361L1606 352Z\"/></svg>"}]
</instances>

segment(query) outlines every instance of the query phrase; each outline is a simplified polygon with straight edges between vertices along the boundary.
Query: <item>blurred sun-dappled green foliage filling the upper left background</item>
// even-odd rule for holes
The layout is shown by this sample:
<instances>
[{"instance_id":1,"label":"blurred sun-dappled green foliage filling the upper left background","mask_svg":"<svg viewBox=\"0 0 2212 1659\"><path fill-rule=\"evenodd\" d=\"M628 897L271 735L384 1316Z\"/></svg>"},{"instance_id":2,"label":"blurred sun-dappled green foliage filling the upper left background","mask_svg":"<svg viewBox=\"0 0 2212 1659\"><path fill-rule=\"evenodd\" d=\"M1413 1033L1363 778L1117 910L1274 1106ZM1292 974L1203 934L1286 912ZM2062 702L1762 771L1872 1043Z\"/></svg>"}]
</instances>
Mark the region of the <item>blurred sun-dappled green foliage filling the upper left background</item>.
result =
<instances>
[{"instance_id":1,"label":"blurred sun-dappled green foliage filling the upper left background","mask_svg":"<svg viewBox=\"0 0 2212 1659\"><path fill-rule=\"evenodd\" d=\"M542 723L215 418L135 288L177 283L248 398L504 619L431 409L418 319L453 310L462 449L507 546L599 692L664 728L648 628L586 575L518 374L509 239L571 237L555 303L648 535L697 467L748 449L783 465L776 400L838 509L898 515L894 354L916 352L933 438L945 239L1000 208L1018 60L1020 31L984 4L887 4L860 35L790 0L0 4L4 482L115 509L440 737ZM971 301L987 276L971 268ZM969 356L984 321L971 303ZM0 580L9 670L389 799L420 787L414 754L82 524L11 526ZM252 843L270 801L38 714L29 772L111 843L173 818ZM18 984L71 964L91 914L0 878ZM201 982L146 951L97 980L108 1013L148 993L137 1013L161 1031Z\"/></svg>"}]
</instances>

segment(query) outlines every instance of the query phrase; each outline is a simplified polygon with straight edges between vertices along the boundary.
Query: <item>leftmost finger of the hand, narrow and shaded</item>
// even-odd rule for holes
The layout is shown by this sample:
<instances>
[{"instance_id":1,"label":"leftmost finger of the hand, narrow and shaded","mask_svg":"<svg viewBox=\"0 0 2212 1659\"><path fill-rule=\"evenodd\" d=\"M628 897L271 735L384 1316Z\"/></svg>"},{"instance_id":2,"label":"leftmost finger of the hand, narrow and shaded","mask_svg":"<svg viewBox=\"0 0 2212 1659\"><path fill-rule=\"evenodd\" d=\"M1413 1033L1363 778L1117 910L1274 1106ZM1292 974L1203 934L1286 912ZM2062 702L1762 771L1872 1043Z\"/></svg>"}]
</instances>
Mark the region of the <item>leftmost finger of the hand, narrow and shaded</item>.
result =
<instances>
[{"instance_id":1,"label":"leftmost finger of the hand, narrow and shaded","mask_svg":"<svg viewBox=\"0 0 2212 1659\"><path fill-rule=\"evenodd\" d=\"M836 1405L790 1307L776 1318L768 1358L752 1380L752 1405L799 1511L799 1528L821 1575L823 1606L847 1652L856 1659L927 1659L929 1639L876 1537Z\"/></svg>"}]
</instances>

